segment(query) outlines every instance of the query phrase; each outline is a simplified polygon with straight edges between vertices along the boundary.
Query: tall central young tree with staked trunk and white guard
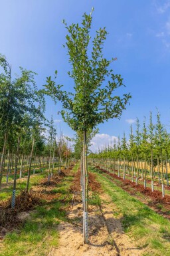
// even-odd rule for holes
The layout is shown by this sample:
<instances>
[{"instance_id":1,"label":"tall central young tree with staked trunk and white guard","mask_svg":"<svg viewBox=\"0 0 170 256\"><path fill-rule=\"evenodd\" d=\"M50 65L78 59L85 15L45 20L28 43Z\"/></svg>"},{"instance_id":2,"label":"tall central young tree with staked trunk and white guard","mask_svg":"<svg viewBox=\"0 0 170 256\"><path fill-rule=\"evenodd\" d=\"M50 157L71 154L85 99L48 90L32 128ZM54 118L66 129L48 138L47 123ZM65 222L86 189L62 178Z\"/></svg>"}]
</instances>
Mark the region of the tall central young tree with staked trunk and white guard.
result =
<instances>
[{"instance_id":1,"label":"tall central young tree with staked trunk and white guard","mask_svg":"<svg viewBox=\"0 0 170 256\"><path fill-rule=\"evenodd\" d=\"M124 86L120 74L114 74L110 64L116 59L106 60L102 49L106 40L106 29L96 31L92 41L92 53L89 54L92 13L84 13L82 24L64 25L68 31L66 45L71 71L74 79L74 92L62 90L60 84L46 79L46 93L54 100L62 102L62 118L76 132L83 134L83 190L84 190L84 243L88 242L88 170L87 170L87 132L93 130L104 120L120 118L122 111L131 98L124 94L121 98L116 88ZM57 72L55 72L56 78Z\"/></svg>"}]
</instances>

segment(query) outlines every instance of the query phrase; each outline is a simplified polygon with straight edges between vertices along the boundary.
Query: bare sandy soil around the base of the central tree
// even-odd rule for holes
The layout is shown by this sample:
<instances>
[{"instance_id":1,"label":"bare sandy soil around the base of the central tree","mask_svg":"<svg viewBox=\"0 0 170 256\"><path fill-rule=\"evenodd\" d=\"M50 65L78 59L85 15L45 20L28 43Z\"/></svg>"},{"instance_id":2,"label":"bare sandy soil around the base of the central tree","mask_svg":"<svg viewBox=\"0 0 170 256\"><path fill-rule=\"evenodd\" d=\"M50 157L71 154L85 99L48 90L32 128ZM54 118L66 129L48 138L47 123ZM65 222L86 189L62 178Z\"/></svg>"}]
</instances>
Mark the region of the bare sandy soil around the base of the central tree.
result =
<instances>
[{"instance_id":1,"label":"bare sandy soil around the base of the central tree","mask_svg":"<svg viewBox=\"0 0 170 256\"><path fill-rule=\"evenodd\" d=\"M62 222L58 225L59 245L52 247L48 256L139 256L143 253L125 235L121 219L113 217L116 206L110 197L102 195L101 199L100 207L89 207L89 244L82 246L82 204L77 195L68 213L75 224Z\"/></svg>"}]
</instances>

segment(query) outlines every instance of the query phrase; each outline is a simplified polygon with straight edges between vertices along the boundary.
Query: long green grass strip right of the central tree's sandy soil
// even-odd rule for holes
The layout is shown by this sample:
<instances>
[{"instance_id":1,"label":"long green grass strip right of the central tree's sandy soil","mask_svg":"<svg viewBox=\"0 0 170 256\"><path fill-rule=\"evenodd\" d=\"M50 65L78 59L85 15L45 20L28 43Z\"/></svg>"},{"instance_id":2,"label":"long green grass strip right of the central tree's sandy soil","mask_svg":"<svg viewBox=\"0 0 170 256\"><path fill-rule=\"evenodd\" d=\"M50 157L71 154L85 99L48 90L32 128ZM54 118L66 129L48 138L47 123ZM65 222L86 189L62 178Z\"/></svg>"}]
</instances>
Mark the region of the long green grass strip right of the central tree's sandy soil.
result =
<instances>
[{"instance_id":1,"label":"long green grass strip right of the central tree's sandy soil","mask_svg":"<svg viewBox=\"0 0 170 256\"><path fill-rule=\"evenodd\" d=\"M135 238L139 247L148 249L145 256L169 256L170 221L122 190L117 181L114 184L107 174L101 174L94 168L89 169L97 174L104 192L110 195L116 205L117 211L113 211L113 217L120 217L124 231Z\"/></svg>"}]
</instances>

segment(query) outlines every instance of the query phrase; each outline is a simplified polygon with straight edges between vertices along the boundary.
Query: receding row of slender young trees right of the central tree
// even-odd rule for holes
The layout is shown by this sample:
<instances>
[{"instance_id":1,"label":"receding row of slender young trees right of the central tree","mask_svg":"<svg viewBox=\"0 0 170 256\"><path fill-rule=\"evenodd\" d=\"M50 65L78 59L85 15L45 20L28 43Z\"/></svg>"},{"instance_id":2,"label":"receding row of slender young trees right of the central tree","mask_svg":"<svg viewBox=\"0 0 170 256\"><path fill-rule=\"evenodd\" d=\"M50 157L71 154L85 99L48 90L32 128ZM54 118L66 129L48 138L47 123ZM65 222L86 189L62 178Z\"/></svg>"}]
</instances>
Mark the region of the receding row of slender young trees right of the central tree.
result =
<instances>
[{"instance_id":1,"label":"receding row of slender young trees right of the central tree","mask_svg":"<svg viewBox=\"0 0 170 256\"><path fill-rule=\"evenodd\" d=\"M131 175L131 180L138 185L139 179L143 180L146 188L147 180L151 180L151 190L154 190L154 181L158 180L162 184L162 195L164 197L165 184L169 186L169 156L170 156L170 134L161 123L160 114L157 112L157 122L153 124L152 113L150 112L149 125L146 126L144 118L143 124L137 118L135 132L131 125L129 140L124 133L123 138L114 140L98 153L90 154L90 158L95 158L100 166L118 171L118 176L122 171L124 180L126 174ZM95 162L95 160L94 160Z\"/></svg>"}]
</instances>

